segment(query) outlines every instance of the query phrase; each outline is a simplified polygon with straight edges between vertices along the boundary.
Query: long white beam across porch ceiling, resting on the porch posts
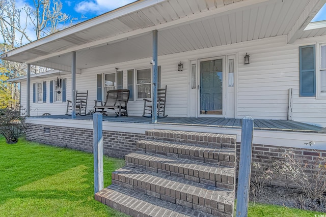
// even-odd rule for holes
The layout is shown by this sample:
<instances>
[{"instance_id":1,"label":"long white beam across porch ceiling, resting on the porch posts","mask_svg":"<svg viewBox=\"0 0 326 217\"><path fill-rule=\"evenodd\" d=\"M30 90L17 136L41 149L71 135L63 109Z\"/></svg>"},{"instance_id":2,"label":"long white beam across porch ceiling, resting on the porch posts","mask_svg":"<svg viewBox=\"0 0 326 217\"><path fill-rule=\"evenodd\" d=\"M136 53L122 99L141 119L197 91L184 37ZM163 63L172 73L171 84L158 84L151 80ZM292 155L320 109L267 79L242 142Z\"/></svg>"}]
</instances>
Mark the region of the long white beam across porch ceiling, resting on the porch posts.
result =
<instances>
[{"instance_id":1,"label":"long white beam across porch ceiling, resting on the porch posts","mask_svg":"<svg viewBox=\"0 0 326 217\"><path fill-rule=\"evenodd\" d=\"M215 9L208 10L208 11L205 11L205 12L201 12L201 13L198 13L198 14L193 14L193 15L186 16L186 17L183 17L183 18L180 18L180 19L177 19L177 20L173 20L171 22L161 23L161 24L158 24L156 26L150 26L150 27L147 27L147 28L135 29L135 30L130 31L128 33L113 36L111 38L86 43L86 44L79 45L79 46L76 46L76 47L73 47L73 48L70 48L70 49L67 49L67 50L64 50L64 51L57 52L57 53L51 53L51 54L48 54L48 55L45 55L45 56L41 56L41 57L38 57L38 58L35 58L35 59L31 59L31 60L27 61L26 63L35 64L37 61L47 59L47 58L50 58L52 56L59 56L59 55L62 55L62 54L65 54L65 53L68 53L68 52L71 52L71 51L79 51L79 50L83 50L83 49L89 49L90 47L97 47L97 46L101 46L101 45L105 45L105 44L113 44L113 43L116 43L116 42L126 40L128 38L139 37L139 36L151 33L153 30L158 30L158 31L165 30L165 29L168 29L168 28L171 28L171 27L176 27L176 26L179 26L179 25L182 25L182 24L185 24L185 23L190 23L190 22L193 22L193 21L198 21L198 20L201 20L201 19L205 19L205 18L210 17L210 16L215 16L216 14L221 14L221 13L225 13L225 12L228 12L228 11L241 9L243 7L248 7L248 6L251 6L251 5L255 5L255 4L259 4L259 3L263 3L263 2L267 2L267 1L268 0L247 0L247 1L236 2L236 3L233 3L233 4L226 5L224 7L221 7L221 8L215 8Z\"/></svg>"}]
</instances>

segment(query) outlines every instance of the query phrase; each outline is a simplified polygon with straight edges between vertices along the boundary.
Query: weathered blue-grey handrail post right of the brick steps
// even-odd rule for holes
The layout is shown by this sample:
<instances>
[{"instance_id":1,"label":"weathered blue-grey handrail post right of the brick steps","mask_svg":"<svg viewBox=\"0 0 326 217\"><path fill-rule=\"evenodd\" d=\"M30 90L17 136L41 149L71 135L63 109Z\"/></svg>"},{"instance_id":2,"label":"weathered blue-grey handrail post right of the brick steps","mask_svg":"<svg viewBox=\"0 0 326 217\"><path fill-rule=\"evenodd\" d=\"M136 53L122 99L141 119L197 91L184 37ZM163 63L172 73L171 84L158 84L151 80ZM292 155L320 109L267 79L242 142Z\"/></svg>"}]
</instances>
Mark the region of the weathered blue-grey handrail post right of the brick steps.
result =
<instances>
[{"instance_id":1,"label":"weathered blue-grey handrail post right of the brick steps","mask_svg":"<svg viewBox=\"0 0 326 217\"><path fill-rule=\"evenodd\" d=\"M249 116L243 117L241 127L238 189L236 196L237 217L248 216L253 130L254 119Z\"/></svg>"}]
</instances>

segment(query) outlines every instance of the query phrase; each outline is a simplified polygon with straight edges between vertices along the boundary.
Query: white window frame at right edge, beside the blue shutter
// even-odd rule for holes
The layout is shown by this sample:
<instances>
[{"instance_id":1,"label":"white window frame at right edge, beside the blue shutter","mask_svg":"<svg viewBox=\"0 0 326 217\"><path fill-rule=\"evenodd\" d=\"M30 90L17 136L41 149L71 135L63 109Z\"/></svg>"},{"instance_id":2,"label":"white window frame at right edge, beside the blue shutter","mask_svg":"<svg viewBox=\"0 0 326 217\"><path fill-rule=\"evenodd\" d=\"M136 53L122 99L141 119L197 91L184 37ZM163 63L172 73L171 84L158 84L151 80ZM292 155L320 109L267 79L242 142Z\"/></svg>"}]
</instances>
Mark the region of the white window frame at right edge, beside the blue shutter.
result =
<instances>
[{"instance_id":1,"label":"white window frame at right edge, beside the blue shutter","mask_svg":"<svg viewBox=\"0 0 326 217\"><path fill-rule=\"evenodd\" d=\"M325 99L326 92L321 92L321 46L326 46L326 42L316 43L316 98Z\"/></svg>"}]
</instances>

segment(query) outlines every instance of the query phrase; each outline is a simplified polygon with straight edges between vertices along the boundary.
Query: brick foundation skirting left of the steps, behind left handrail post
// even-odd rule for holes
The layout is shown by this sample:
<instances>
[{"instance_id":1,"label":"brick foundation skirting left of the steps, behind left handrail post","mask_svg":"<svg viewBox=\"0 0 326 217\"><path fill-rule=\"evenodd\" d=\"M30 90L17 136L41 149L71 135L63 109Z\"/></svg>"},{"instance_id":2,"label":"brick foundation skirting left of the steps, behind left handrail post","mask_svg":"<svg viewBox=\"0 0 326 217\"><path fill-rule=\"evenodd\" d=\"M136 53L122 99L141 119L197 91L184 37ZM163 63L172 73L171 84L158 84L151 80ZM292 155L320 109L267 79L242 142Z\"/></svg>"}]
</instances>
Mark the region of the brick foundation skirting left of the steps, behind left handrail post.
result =
<instances>
[{"instance_id":1,"label":"brick foundation skirting left of the steps, behind left handrail post","mask_svg":"<svg viewBox=\"0 0 326 217\"><path fill-rule=\"evenodd\" d=\"M103 152L106 156L124 158L136 150L136 142L144 137L145 134L103 131ZM93 130L30 123L26 140L93 152Z\"/></svg>"}]
</instances>

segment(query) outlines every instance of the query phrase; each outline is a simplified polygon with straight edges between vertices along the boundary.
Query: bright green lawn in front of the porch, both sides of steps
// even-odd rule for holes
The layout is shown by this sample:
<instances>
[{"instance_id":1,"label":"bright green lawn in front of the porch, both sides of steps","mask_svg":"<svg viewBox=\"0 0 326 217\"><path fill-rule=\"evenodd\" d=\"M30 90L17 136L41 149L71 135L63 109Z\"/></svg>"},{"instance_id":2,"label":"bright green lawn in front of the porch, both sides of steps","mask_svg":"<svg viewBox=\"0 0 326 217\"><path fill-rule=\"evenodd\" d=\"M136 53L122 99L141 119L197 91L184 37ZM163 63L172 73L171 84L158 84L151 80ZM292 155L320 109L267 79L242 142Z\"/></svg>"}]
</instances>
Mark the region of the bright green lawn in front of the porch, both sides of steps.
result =
<instances>
[{"instance_id":1,"label":"bright green lawn in front of the porch, both sides of steps","mask_svg":"<svg viewBox=\"0 0 326 217\"><path fill-rule=\"evenodd\" d=\"M104 158L104 187L121 159ZM126 216L94 200L93 155L0 137L0 216ZM315 216L319 212L250 204L248 216Z\"/></svg>"}]
</instances>

